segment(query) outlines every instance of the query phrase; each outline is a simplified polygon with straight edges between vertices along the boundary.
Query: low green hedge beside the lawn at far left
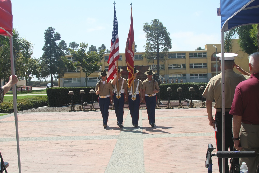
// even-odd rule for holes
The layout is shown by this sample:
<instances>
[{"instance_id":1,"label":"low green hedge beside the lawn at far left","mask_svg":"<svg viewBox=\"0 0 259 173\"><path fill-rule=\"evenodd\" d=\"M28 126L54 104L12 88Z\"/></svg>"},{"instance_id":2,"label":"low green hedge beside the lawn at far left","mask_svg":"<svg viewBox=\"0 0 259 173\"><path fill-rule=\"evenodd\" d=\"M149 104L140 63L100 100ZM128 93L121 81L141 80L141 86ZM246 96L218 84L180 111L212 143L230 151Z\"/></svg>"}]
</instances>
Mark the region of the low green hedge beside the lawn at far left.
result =
<instances>
[{"instance_id":1,"label":"low green hedge beside the lawn at far left","mask_svg":"<svg viewBox=\"0 0 259 173\"><path fill-rule=\"evenodd\" d=\"M17 110L27 110L42 106L48 106L46 96L35 96L25 99L17 99ZM13 100L9 102L3 102L0 104L0 113L11 113L13 112Z\"/></svg>"}]
</instances>

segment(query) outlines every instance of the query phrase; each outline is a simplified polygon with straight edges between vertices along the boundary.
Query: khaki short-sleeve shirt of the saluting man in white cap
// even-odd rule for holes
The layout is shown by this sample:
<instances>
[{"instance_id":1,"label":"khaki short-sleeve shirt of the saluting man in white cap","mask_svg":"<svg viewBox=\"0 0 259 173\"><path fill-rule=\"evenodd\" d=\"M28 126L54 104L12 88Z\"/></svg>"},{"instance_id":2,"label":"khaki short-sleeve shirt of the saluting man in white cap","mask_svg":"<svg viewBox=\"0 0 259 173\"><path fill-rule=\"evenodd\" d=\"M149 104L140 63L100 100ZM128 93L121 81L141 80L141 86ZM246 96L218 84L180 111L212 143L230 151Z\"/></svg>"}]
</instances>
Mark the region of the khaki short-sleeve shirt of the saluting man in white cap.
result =
<instances>
[{"instance_id":1,"label":"khaki short-sleeve shirt of the saluting man in white cap","mask_svg":"<svg viewBox=\"0 0 259 173\"><path fill-rule=\"evenodd\" d=\"M249 76L236 74L233 70L225 70L225 108L231 108L236 86L248 78ZM221 108L221 73L211 78L202 96L210 101L215 99L214 108Z\"/></svg>"}]
</instances>

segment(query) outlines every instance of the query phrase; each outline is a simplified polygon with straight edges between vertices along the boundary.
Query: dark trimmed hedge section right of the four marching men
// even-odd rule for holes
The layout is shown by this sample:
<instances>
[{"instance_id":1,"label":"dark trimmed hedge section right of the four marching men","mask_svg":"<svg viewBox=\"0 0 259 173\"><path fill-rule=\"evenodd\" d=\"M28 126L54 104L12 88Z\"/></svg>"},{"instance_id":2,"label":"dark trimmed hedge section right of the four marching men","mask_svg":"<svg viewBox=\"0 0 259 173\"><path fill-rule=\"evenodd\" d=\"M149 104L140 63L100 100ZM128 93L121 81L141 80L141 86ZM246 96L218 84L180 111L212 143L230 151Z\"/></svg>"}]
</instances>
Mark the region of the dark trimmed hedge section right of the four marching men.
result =
<instances>
[{"instance_id":1,"label":"dark trimmed hedge section right of the four marching men","mask_svg":"<svg viewBox=\"0 0 259 173\"><path fill-rule=\"evenodd\" d=\"M172 88L172 92L170 92L170 100L178 100L179 92L177 92L177 88L182 88L182 92L180 95L181 100L190 99L191 100L191 92L189 92L189 88L193 87L194 91L192 92L192 100L202 100L202 93L200 91L200 86L207 86L207 83L174 83L174 84L161 84L160 88L160 99L168 100L168 92L166 91L168 87ZM203 98L206 100L205 98Z\"/></svg>"}]
</instances>

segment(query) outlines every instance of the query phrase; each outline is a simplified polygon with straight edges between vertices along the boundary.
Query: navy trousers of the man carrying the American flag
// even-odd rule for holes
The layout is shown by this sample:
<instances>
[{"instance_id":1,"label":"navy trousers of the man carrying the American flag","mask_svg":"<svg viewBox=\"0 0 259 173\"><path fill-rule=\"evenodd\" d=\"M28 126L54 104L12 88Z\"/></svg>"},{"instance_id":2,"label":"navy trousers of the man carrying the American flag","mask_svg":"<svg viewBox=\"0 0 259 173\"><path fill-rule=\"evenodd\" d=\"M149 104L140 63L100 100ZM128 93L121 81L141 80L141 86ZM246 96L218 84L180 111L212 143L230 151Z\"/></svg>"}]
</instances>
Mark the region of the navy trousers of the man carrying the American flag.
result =
<instances>
[{"instance_id":1,"label":"navy trousers of the man carrying the American flag","mask_svg":"<svg viewBox=\"0 0 259 173\"><path fill-rule=\"evenodd\" d=\"M115 111L118 123L122 124L125 95L124 95L124 93L121 93L119 99L117 99L116 95L117 95L116 93L113 93L113 102L114 102L114 109L115 109L114 111Z\"/></svg>"}]
</instances>

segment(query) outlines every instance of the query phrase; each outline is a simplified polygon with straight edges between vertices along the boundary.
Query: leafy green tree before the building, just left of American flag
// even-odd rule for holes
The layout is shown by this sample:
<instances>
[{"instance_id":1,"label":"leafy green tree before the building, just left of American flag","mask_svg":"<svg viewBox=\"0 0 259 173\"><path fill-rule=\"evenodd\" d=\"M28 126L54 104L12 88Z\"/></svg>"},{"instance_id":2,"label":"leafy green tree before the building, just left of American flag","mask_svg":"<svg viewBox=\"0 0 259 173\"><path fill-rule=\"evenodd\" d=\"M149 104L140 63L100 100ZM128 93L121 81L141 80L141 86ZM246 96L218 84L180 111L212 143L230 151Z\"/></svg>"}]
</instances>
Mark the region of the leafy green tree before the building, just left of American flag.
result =
<instances>
[{"instance_id":1,"label":"leafy green tree before the building, just left of American flag","mask_svg":"<svg viewBox=\"0 0 259 173\"><path fill-rule=\"evenodd\" d=\"M70 49L71 55L75 58L77 67L81 67L82 71L85 72L85 78L95 71L100 69L100 61L103 59L104 50L100 52L87 51L87 43L80 43L79 49ZM87 86L87 80L85 80L85 86Z\"/></svg>"}]
</instances>

